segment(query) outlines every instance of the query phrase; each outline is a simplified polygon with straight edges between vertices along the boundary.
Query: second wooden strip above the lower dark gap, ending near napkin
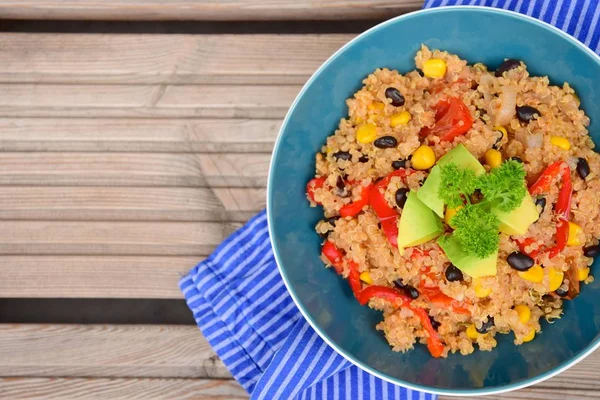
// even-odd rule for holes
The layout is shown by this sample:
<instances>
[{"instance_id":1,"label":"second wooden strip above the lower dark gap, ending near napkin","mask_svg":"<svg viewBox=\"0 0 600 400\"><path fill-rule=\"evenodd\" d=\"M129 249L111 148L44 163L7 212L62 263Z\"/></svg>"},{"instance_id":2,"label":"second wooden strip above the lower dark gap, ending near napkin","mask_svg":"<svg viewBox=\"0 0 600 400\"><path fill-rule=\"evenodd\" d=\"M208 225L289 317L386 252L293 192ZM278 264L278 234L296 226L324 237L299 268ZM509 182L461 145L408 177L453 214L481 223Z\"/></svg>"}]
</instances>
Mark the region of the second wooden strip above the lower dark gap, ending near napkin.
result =
<instances>
[{"instance_id":1,"label":"second wooden strip above the lower dark gap, ending near napkin","mask_svg":"<svg viewBox=\"0 0 600 400\"><path fill-rule=\"evenodd\" d=\"M239 223L5 221L0 255L209 254Z\"/></svg>"}]
</instances>

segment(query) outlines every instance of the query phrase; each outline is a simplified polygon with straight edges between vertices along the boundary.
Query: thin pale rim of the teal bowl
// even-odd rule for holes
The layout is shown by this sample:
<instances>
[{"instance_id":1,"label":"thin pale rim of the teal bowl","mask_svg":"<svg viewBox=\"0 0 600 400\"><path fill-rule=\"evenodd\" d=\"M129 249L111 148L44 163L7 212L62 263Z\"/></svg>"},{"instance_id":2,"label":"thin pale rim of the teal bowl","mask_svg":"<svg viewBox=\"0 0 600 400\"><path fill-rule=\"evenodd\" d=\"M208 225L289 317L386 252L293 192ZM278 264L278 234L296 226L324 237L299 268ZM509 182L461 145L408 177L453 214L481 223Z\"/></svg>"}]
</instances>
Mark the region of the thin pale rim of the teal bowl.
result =
<instances>
[{"instance_id":1,"label":"thin pale rim of the teal bowl","mask_svg":"<svg viewBox=\"0 0 600 400\"><path fill-rule=\"evenodd\" d=\"M371 27L370 29L364 31L363 33L357 35L355 38L350 40L348 43L346 43L342 47L340 47L329 58L327 58L327 60L324 61L319 66L319 68L311 75L311 77L308 79L308 81L306 81L306 83L302 86L302 89L300 90L300 92L298 93L298 95L296 96L294 101L292 102L290 108L288 109L288 112L286 113L286 116L283 119L283 122L281 124L281 128L279 129L277 139L275 140L275 145L273 147L271 161L269 163L269 175L267 178L267 207L266 207L267 208L267 225L268 225L268 229L269 229L269 235L271 237L271 242L273 244L272 248L273 248L273 254L275 256L277 268L279 269L279 273L281 274L281 277L283 278L283 282L285 284L285 287L286 287L288 293L292 297L294 303L296 304L296 307L298 307L298 309L300 310L300 313L302 314L304 319L306 321L308 321L309 325L315 330L315 332L317 332L317 334L321 337L321 339L323 339L325 341L325 343L327 343L329 346L331 346L338 354L340 354L342 357L344 357L350 363L352 363L353 365L356 365L358 368L362 369L363 371L368 372L384 381L393 383L395 385L403 386L408 389L420 390L420 391L429 392L429 393L433 393L433 394L448 395L448 396L483 396L483 395L488 395L488 394L499 394L499 393L510 392L513 390L523 389L525 387L543 382L547 379L552 378L553 376L560 374L563 371L566 371L567 369L569 369L573 365L577 364L578 362L582 361L584 358L586 358L592 352L594 352L594 350L596 350L597 348L600 347L600 335L598 335L592 342L590 342L590 344L588 344L583 350L581 350L579 353L577 353L570 360L565 361L562 364L559 364L558 366L554 367L550 371L546 371L545 373L540 374L537 377L528 378L523 381L516 382L516 383L510 383L510 384L504 385L504 386L498 386L498 387L492 387L492 388L483 387L483 388L474 388L474 389L442 389L442 388L434 388L434 387L430 387L430 386L424 386L424 385L406 382L406 381L403 381L402 379L394 378L383 372L380 372L380 371L362 363L361 361L357 360L352 355L347 354L327 334L325 334L321 330L318 323L315 320L313 320L313 318L308 314L307 310L300 303L299 299L297 298L296 293L294 292L294 290L291 287L291 282L285 272L285 269L281 267L281 265L283 264L283 260L281 258L281 255L279 254L279 250L277 249L277 246L275 246L275 244L274 244L274 239L273 239L274 234L273 234L273 228L272 228L273 227L273 215L272 215L271 210L273 209L273 198L272 198L273 196L272 196L271 189L272 189L272 177L273 177L272 171L274 169L274 160L276 158L277 152L279 151L281 138L283 136L282 134L286 130L287 125L289 124L289 120L291 118L293 111L295 110L300 98L302 98L302 96L306 92L307 88L312 84L312 82L316 79L316 77L318 75L320 75L322 70L325 69L325 67L327 67L335 58L338 57L338 55L340 53L345 51L348 47L350 47L354 43L362 40L367 35L375 32L379 29L384 28L387 25L394 24L394 23L402 21L404 19L412 18L416 15L446 13L446 12L456 12L456 11L501 14L501 15L509 16L511 18L521 19L525 22L533 23L542 29L549 30L549 31L557 34L558 36L561 36L564 39L570 41L572 44L574 44L580 50L582 50L585 53L587 53L588 55L590 55L592 57L592 59L594 59L596 61L596 63L598 64L598 66L600 67L600 56L598 56L589 47L587 47L585 44L583 44L579 40L575 39L568 33L564 32L564 31L558 29L557 27L550 25L549 23L544 22L542 20L530 17L525 14L521 14L521 13L518 13L515 11L505 10L505 9L501 9L501 8L493 8L493 7L487 7L487 6L465 6L465 5L444 6L444 7L428 8L428 9L413 11L413 12L410 12L407 14L403 14L403 15L399 15L397 17L391 18L384 22L381 22L381 23Z\"/></svg>"}]
</instances>

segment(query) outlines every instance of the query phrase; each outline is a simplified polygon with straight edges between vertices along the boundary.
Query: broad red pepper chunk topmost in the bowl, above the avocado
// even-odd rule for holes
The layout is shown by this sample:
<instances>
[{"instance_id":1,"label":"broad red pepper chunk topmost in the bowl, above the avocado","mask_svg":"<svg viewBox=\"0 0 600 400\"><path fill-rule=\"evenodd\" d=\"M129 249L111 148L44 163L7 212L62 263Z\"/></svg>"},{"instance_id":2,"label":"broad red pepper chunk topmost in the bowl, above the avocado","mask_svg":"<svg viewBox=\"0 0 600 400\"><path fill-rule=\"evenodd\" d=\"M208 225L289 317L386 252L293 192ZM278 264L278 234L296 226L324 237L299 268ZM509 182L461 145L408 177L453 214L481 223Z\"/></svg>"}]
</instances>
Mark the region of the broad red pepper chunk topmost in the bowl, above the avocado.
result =
<instances>
[{"instance_id":1,"label":"broad red pepper chunk topmost in the bowl, above the avocado","mask_svg":"<svg viewBox=\"0 0 600 400\"><path fill-rule=\"evenodd\" d=\"M471 111L461 99L450 97L441 100L433 109L435 110L435 124L433 127L421 129L422 136L438 136L442 142L450 142L458 136L466 134L473 126Z\"/></svg>"}]
</instances>

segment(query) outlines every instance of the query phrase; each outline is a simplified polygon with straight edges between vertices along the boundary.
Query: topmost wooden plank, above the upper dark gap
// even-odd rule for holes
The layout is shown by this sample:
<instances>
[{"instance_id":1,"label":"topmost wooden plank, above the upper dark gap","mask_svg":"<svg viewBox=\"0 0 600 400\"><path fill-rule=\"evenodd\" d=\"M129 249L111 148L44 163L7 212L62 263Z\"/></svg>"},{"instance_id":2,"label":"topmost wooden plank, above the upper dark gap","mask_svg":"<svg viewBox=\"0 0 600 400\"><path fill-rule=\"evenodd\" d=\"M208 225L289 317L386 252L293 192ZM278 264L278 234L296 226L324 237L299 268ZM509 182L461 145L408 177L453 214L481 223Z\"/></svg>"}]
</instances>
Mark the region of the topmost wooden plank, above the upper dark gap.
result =
<instances>
[{"instance_id":1,"label":"topmost wooden plank, above the upper dark gap","mask_svg":"<svg viewBox=\"0 0 600 400\"><path fill-rule=\"evenodd\" d=\"M36 0L4 1L2 18L98 20L298 20L387 18L421 0Z\"/></svg>"}]
</instances>

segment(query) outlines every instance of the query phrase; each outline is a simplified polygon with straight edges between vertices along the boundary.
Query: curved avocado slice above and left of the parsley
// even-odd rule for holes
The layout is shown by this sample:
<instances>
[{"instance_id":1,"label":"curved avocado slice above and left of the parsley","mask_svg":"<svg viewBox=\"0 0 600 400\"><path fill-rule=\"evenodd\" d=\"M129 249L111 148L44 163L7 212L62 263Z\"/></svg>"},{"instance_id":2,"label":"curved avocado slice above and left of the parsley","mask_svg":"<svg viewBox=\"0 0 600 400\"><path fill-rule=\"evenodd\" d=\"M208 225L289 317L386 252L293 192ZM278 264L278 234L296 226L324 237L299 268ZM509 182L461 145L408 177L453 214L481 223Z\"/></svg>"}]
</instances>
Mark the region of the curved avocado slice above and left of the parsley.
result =
<instances>
[{"instance_id":1,"label":"curved avocado slice above and left of the parsley","mask_svg":"<svg viewBox=\"0 0 600 400\"><path fill-rule=\"evenodd\" d=\"M455 163L462 168L468 168L475 172L475 175L485 174L483 165L462 144L458 144L440 158L437 164L431 169L431 173L418 192L419 199L439 215L440 218L444 218L444 202L438 196L441 180L440 167L450 163Z\"/></svg>"}]
</instances>

